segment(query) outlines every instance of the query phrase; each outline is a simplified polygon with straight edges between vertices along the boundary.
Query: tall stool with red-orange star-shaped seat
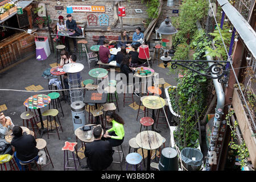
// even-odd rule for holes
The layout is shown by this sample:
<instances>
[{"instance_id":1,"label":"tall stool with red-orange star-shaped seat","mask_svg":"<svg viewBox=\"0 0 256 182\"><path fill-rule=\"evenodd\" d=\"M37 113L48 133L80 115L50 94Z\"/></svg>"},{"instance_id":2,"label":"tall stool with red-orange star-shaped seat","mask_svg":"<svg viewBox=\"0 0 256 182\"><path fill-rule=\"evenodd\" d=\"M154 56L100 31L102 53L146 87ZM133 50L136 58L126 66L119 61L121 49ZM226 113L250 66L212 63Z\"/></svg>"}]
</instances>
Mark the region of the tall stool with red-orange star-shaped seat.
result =
<instances>
[{"instance_id":1,"label":"tall stool with red-orange star-shaped seat","mask_svg":"<svg viewBox=\"0 0 256 182\"><path fill-rule=\"evenodd\" d=\"M77 142L65 142L65 146L61 148L61 150L64 151L64 171L65 169L76 169L77 171L77 168L79 167L80 165L80 160L79 160L79 157L77 155ZM73 155L73 158L68 158L68 151L72 152L72 155ZM76 158L75 158L75 155L74 155L74 151L76 151ZM66 155L67 154L67 163L65 163L65 159L66 159ZM68 160L73 160L74 161L74 164L75 164L75 167L67 167L68 165ZM76 166L76 160L78 160L78 164Z\"/></svg>"}]
</instances>

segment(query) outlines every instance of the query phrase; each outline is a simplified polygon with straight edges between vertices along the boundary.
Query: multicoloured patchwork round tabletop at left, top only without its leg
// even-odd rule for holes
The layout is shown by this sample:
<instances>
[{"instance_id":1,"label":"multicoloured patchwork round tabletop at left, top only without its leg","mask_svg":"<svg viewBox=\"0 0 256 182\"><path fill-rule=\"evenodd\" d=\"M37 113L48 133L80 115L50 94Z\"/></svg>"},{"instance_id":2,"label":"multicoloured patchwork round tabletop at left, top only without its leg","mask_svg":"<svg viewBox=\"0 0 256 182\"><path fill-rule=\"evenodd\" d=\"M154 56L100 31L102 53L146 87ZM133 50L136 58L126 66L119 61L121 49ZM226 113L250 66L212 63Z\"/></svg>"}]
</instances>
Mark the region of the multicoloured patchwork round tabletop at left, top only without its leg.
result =
<instances>
[{"instance_id":1,"label":"multicoloured patchwork round tabletop at left, top only without its leg","mask_svg":"<svg viewBox=\"0 0 256 182\"><path fill-rule=\"evenodd\" d=\"M44 94L38 94L31 97L28 97L26 101L24 101L24 106L29 109L39 109L47 106L51 102L51 98Z\"/></svg>"}]
</instances>

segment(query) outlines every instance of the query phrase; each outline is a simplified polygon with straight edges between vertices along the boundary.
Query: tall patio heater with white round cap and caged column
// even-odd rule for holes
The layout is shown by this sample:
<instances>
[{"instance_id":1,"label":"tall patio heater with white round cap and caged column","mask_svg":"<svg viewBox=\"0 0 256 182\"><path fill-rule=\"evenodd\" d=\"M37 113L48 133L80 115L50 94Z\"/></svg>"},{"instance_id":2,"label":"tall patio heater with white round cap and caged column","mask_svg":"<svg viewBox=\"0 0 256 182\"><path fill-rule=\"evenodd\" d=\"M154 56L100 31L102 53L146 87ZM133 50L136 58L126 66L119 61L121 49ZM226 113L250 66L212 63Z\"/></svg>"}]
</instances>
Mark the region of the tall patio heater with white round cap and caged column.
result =
<instances>
[{"instance_id":1,"label":"tall patio heater with white round cap and caged column","mask_svg":"<svg viewBox=\"0 0 256 182\"><path fill-rule=\"evenodd\" d=\"M69 96L71 100L71 113L74 131L81 126L84 126L86 122L84 94L81 89L82 69L84 69L84 65L81 63L69 63L63 66L63 71L68 74Z\"/></svg>"}]
</instances>

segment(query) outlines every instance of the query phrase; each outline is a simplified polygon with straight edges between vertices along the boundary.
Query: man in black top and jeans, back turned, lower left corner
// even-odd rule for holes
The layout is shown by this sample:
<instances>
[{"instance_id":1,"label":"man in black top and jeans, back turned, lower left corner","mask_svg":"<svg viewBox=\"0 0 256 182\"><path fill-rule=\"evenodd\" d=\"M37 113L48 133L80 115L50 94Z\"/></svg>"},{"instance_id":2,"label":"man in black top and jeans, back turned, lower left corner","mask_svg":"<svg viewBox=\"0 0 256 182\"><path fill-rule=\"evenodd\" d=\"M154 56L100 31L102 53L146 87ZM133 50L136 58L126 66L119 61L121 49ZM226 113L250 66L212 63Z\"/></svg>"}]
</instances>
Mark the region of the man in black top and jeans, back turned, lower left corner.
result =
<instances>
[{"instance_id":1,"label":"man in black top and jeans, back turned, lower left corner","mask_svg":"<svg viewBox=\"0 0 256 182\"><path fill-rule=\"evenodd\" d=\"M36 148L35 138L30 134L22 134L21 127L14 126L13 135L14 138L11 141L11 146L13 148L15 161L21 171L22 166L19 162L30 163L32 160L38 160L39 150Z\"/></svg>"}]
</instances>

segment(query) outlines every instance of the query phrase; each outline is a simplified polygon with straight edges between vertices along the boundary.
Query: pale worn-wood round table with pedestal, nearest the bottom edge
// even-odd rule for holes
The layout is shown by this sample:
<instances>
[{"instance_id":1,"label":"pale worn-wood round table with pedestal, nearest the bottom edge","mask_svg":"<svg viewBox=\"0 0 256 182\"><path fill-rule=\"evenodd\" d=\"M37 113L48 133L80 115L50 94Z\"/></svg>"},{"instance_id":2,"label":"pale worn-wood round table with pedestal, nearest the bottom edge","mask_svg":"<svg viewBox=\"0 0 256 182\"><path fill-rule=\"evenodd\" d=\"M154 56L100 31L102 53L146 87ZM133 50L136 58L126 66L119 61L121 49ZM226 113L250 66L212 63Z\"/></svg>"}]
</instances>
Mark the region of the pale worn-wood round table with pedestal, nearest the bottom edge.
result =
<instances>
[{"instance_id":1,"label":"pale worn-wood round table with pedestal, nearest the bottom edge","mask_svg":"<svg viewBox=\"0 0 256 182\"><path fill-rule=\"evenodd\" d=\"M162 146L163 138L155 131L142 131L136 136L136 143L147 150L147 171L150 171L150 151Z\"/></svg>"}]
</instances>

